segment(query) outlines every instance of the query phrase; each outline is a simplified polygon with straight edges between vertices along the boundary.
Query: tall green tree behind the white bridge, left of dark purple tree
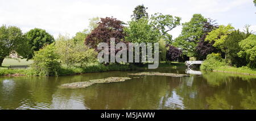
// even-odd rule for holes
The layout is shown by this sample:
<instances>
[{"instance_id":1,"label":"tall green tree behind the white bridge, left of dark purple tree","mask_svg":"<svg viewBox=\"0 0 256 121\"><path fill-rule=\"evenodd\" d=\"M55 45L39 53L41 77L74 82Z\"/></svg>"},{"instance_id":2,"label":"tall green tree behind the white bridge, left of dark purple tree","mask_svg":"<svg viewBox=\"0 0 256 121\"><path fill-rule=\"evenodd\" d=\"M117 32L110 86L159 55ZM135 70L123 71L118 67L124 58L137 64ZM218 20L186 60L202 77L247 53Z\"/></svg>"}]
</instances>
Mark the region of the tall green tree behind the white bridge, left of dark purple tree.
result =
<instances>
[{"instance_id":1,"label":"tall green tree behind the white bridge, left of dark purple tree","mask_svg":"<svg viewBox=\"0 0 256 121\"><path fill-rule=\"evenodd\" d=\"M201 14L194 14L191 20L183 23L181 35L174 40L174 45L181 48L185 55L196 56L196 45L204 34L204 23L207 19Z\"/></svg>"}]
</instances>

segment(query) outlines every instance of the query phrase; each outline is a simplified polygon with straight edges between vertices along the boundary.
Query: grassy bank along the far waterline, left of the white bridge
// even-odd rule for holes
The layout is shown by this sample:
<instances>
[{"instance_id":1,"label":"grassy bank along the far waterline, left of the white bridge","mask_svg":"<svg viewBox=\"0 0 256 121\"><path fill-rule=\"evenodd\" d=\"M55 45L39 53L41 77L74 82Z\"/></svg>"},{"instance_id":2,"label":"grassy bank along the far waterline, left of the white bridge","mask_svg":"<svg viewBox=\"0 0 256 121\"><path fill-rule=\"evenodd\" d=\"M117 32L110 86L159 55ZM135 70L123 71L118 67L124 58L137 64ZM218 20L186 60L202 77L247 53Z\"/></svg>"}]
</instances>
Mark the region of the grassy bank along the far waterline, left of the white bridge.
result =
<instances>
[{"instance_id":1,"label":"grassy bank along the far waterline, left of the white bridge","mask_svg":"<svg viewBox=\"0 0 256 121\"><path fill-rule=\"evenodd\" d=\"M180 62L161 62L159 68L163 67L185 67L184 63ZM147 69L148 64L136 65L136 64L90 64L84 68L73 66L71 68L62 67L59 76L68 76L74 74L82 73L98 73L98 72L108 72L108 71L117 71L117 70L138 70L138 69ZM0 76L5 76L7 74L25 74L26 76L35 76L35 71L32 69L0 69Z\"/></svg>"}]
</instances>

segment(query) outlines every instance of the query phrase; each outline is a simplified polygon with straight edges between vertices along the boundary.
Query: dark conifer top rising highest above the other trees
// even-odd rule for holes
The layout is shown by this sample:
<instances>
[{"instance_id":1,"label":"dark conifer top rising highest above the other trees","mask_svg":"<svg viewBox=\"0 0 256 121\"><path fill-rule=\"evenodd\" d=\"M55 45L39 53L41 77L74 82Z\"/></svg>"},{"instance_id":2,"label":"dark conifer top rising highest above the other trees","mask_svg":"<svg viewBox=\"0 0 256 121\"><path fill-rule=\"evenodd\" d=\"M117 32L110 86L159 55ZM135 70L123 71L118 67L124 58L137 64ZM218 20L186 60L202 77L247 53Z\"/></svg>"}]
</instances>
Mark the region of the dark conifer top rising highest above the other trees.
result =
<instances>
[{"instance_id":1,"label":"dark conifer top rising highest above the other trees","mask_svg":"<svg viewBox=\"0 0 256 121\"><path fill-rule=\"evenodd\" d=\"M147 13L147 7L144 7L144 5L138 5L135 7L133 11L133 15L131 17L135 20L141 19L141 18L148 18L148 13Z\"/></svg>"}]
</instances>

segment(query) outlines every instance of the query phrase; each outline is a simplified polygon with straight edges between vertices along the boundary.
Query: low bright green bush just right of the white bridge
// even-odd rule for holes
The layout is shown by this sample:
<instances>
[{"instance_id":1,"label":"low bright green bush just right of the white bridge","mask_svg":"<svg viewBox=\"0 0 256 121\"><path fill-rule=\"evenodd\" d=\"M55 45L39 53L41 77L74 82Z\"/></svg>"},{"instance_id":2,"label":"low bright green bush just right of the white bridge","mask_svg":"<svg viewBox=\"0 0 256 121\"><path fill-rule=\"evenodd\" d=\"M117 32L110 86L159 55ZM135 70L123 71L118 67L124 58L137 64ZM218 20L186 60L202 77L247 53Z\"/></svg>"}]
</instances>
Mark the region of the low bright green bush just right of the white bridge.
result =
<instances>
[{"instance_id":1,"label":"low bright green bush just right of the white bridge","mask_svg":"<svg viewBox=\"0 0 256 121\"><path fill-rule=\"evenodd\" d=\"M207 56L207 60L201 64L201 70L214 70L219 66L225 65L224 60L221 58L219 53L212 53Z\"/></svg>"}]
</instances>

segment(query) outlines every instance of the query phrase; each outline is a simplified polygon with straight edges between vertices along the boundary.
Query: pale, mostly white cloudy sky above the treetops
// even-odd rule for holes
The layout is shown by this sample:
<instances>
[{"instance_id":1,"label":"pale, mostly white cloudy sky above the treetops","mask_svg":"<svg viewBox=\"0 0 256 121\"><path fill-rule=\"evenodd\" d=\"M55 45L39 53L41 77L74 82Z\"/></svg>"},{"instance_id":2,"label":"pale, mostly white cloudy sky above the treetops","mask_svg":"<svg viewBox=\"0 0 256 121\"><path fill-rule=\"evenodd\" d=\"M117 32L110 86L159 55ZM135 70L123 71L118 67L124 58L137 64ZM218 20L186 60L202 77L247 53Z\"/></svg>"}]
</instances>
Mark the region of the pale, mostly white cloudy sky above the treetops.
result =
<instances>
[{"instance_id":1,"label":"pale, mostly white cloudy sky above the treetops","mask_svg":"<svg viewBox=\"0 0 256 121\"><path fill-rule=\"evenodd\" d=\"M148 7L148 14L161 12L181 17L188 22L193 14L217 20L218 24L232 24L240 30L250 24L256 31L256 7L253 0L0 0L0 26L17 26L23 32L42 28L57 37L59 34L75 36L88 28L89 19L113 16L123 22L131 20L137 5ZM182 26L170 34L179 36Z\"/></svg>"}]
</instances>

